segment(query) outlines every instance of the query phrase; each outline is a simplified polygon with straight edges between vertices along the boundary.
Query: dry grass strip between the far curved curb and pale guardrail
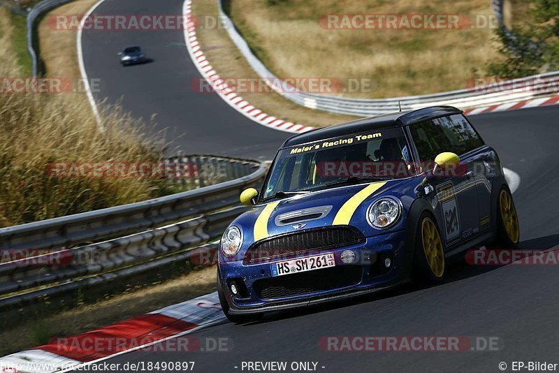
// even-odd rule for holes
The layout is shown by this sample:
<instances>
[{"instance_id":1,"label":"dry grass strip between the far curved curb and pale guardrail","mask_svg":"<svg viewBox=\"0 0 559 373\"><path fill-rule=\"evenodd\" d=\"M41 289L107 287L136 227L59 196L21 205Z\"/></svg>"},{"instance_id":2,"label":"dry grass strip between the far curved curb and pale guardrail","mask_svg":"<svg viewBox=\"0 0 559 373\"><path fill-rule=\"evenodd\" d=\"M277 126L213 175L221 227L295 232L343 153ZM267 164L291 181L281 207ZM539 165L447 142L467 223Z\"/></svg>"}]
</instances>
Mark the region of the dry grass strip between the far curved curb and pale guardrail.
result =
<instances>
[{"instance_id":1,"label":"dry grass strip between the far curved curb and pale guardrail","mask_svg":"<svg viewBox=\"0 0 559 373\"><path fill-rule=\"evenodd\" d=\"M194 15L217 17L217 1L194 1L193 12ZM200 41L208 61L219 75L227 78L259 78L233 44L226 30L198 29L197 33L198 41ZM328 126L355 119L349 115L336 115L307 109L275 93L242 93L241 96L269 115L307 126Z\"/></svg>"}]
</instances>

